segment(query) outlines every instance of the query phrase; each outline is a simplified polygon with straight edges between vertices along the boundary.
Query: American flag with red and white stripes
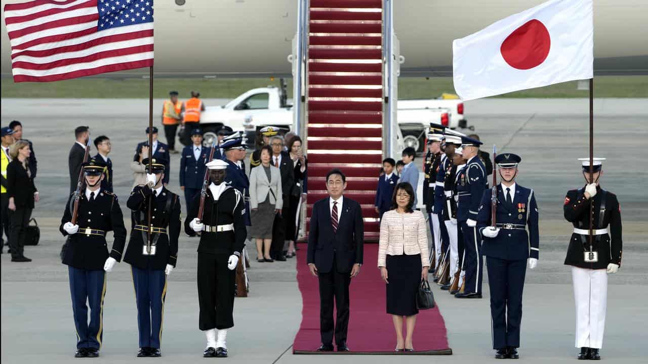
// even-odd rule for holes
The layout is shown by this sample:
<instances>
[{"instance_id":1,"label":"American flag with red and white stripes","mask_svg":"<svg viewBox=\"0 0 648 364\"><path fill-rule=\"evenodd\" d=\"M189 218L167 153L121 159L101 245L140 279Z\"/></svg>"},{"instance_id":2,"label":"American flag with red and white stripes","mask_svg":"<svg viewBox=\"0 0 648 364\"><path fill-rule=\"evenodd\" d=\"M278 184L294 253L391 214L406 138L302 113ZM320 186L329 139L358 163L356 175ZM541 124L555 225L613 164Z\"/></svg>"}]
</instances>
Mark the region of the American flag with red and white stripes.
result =
<instances>
[{"instance_id":1,"label":"American flag with red and white stripes","mask_svg":"<svg viewBox=\"0 0 648 364\"><path fill-rule=\"evenodd\" d=\"M34 0L5 5L14 82L49 82L153 65L153 0Z\"/></svg>"}]
</instances>

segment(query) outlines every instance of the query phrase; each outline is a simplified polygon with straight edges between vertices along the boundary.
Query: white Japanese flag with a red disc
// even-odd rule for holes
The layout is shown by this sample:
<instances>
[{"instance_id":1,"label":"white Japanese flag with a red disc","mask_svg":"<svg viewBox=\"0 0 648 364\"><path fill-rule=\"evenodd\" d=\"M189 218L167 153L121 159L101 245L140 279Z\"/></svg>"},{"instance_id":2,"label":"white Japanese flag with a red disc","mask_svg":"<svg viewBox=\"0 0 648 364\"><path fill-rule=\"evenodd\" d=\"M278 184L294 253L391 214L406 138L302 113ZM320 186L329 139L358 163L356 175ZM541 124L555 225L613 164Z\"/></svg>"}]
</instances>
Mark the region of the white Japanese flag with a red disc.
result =
<instances>
[{"instance_id":1,"label":"white Japanese flag with a red disc","mask_svg":"<svg viewBox=\"0 0 648 364\"><path fill-rule=\"evenodd\" d=\"M594 76L592 0L550 0L452 42L463 100Z\"/></svg>"}]
</instances>

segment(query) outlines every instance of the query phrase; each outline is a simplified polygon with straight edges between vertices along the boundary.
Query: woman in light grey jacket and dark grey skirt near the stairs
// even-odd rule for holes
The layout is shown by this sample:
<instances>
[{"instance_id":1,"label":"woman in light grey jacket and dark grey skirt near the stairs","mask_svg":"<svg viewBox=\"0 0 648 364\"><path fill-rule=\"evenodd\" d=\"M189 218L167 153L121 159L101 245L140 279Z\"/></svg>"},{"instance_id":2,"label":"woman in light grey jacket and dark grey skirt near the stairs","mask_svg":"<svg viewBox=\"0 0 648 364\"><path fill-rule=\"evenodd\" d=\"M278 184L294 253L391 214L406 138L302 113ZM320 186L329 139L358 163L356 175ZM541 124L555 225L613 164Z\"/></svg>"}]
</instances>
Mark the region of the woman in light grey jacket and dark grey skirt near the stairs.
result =
<instances>
[{"instance_id":1,"label":"woman in light grey jacket and dark grey skirt near the stairs","mask_svg":"<svg viewBox=\"0 0 648 364\"><path fill-rule=\"evenodd\" d=\"M257 238L257 262L273 262L270 258L272 244L272 225L275 214L283 208L281 172L270 165L272 149L266 145L261 148L261 168L249 172L249 200L252 226L250 235Z\"/></svg>"}]
</instances>

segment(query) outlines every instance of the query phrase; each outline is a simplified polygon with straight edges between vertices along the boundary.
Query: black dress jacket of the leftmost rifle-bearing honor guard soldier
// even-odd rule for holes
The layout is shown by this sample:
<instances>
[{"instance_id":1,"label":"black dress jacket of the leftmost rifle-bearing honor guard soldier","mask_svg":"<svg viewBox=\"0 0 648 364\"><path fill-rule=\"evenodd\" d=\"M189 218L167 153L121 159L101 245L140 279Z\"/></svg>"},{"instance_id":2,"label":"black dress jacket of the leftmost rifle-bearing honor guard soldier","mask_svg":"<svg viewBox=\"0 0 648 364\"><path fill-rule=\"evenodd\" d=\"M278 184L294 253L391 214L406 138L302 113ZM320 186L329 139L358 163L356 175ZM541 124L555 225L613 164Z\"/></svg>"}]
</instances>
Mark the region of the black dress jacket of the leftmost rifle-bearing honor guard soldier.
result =
<instances>
[{"instance_id":1,"label":"black dress jacket of the leftmost rifle-bearing honor guard soldier","mask_svg":"<svg viewBox=\"0 0 648 364\"><path fill-rule=\"evenodd\" d=\"M97 190L98 196L95 201L90 202L86 198L86 192L83 191L80 196L78 207L77 225L78 233L69 236L65 244L63 253L63 264L78 269L89 271L103 270L108 256L121 261L124 245L126 244L126 227L124 227L124 216L122 216L117 196L111 192ZM67 232L63 229L66 222L72 220L72 210L74 207L73 196L67 200L67 205L59 230L63 236ZM85 234L86 228L104 231L104 235ZM113 231L115 240L108 251L106 244L106 233Z\"/></svg>"}]
</instances>

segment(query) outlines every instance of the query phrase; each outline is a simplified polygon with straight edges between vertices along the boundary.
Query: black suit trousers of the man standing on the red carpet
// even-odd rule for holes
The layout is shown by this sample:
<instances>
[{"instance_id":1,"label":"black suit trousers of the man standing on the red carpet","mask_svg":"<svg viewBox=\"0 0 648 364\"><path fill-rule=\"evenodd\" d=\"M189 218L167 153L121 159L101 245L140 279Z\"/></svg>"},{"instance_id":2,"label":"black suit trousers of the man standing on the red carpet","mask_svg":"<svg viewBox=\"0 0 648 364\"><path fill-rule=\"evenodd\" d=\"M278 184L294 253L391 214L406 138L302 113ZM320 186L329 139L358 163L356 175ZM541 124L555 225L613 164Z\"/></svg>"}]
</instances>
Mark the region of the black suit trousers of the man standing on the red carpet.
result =
<instances>
[{"instance_id":1,"label":"black suit trousers of the man standing on the red carpet","mask_svg":"<svg viewBox=\"0 0 648 364\"><path fill-rule=\"evenodd\" d=\"M341 273L335 264L329 273L319 273L319 334L323 344L333 343L335 335L336 345L347 342L349 329L349 284L351 273ZM335 299L335 306L333 306ZM336 308L338 317L333 321L333 308Z\"/></svg>"}]
</instances>

